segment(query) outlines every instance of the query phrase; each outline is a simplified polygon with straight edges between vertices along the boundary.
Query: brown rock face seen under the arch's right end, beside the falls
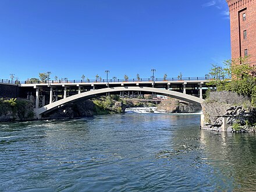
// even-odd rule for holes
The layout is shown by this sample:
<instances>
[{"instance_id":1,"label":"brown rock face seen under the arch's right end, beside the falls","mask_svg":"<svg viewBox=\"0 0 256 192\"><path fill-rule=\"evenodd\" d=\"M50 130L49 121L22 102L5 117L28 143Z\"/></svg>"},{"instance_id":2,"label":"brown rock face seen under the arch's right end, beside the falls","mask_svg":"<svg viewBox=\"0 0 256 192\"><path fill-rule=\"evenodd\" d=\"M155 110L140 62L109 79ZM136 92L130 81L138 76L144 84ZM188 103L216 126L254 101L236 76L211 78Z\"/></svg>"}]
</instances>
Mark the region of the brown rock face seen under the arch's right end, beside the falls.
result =
<instances>
[{"instance_id":1,"label":"brown rock face seen under the arch's right end, beside the falls","mask_svg":"<svg viewBox=\"0 0 256 192\"><path fill-rule=\"evenodd\" d=\"M201 111L201 105L190 104L189 102L172 98L162 101L157 106L157 111L165 113L195 113Z\"/></svg>"}]
</instances>

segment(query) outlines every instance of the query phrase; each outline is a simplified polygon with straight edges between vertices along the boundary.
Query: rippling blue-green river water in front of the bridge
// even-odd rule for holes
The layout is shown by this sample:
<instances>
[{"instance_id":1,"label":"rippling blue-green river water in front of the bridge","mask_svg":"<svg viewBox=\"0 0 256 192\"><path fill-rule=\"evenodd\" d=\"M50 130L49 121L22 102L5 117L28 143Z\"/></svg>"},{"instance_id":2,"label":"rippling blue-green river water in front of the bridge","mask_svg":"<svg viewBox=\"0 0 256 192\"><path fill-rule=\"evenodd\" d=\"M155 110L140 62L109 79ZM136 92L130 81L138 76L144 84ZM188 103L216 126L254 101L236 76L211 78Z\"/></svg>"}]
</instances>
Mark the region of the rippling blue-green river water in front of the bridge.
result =
<instances>
[{"instance_id":1,"label":"rippling blue-green river water in front of the bridge","mask_svg":"<svg viewBox=\"0 0 256 192\"><path fill-rule=\"evenodd\" d=\"M200 115L126 113L0 124L0 191L256 190L255 134Z\"/></svg>"}]
</instances>

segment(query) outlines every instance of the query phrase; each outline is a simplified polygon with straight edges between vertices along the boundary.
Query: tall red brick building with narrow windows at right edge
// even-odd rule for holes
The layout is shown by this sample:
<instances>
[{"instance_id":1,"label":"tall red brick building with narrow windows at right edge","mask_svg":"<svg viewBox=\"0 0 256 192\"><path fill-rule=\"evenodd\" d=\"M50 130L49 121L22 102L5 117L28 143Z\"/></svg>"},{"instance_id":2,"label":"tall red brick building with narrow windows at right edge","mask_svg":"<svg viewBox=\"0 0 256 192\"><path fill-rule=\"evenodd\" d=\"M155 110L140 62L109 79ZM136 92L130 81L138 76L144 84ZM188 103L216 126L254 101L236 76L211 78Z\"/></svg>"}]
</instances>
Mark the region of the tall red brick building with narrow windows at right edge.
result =
<instances>
[{"instance_id":1,"label":"tall red brick building with narrow windows at right edge","mask_svg":"<svg viewBox=\"0 0 256 192\"><path fill-rule=\"evenodd\" d=\"M250 55L256 65L256 0L226 0L230 13L232 58Z\"/></svg>"}]
</instances>

